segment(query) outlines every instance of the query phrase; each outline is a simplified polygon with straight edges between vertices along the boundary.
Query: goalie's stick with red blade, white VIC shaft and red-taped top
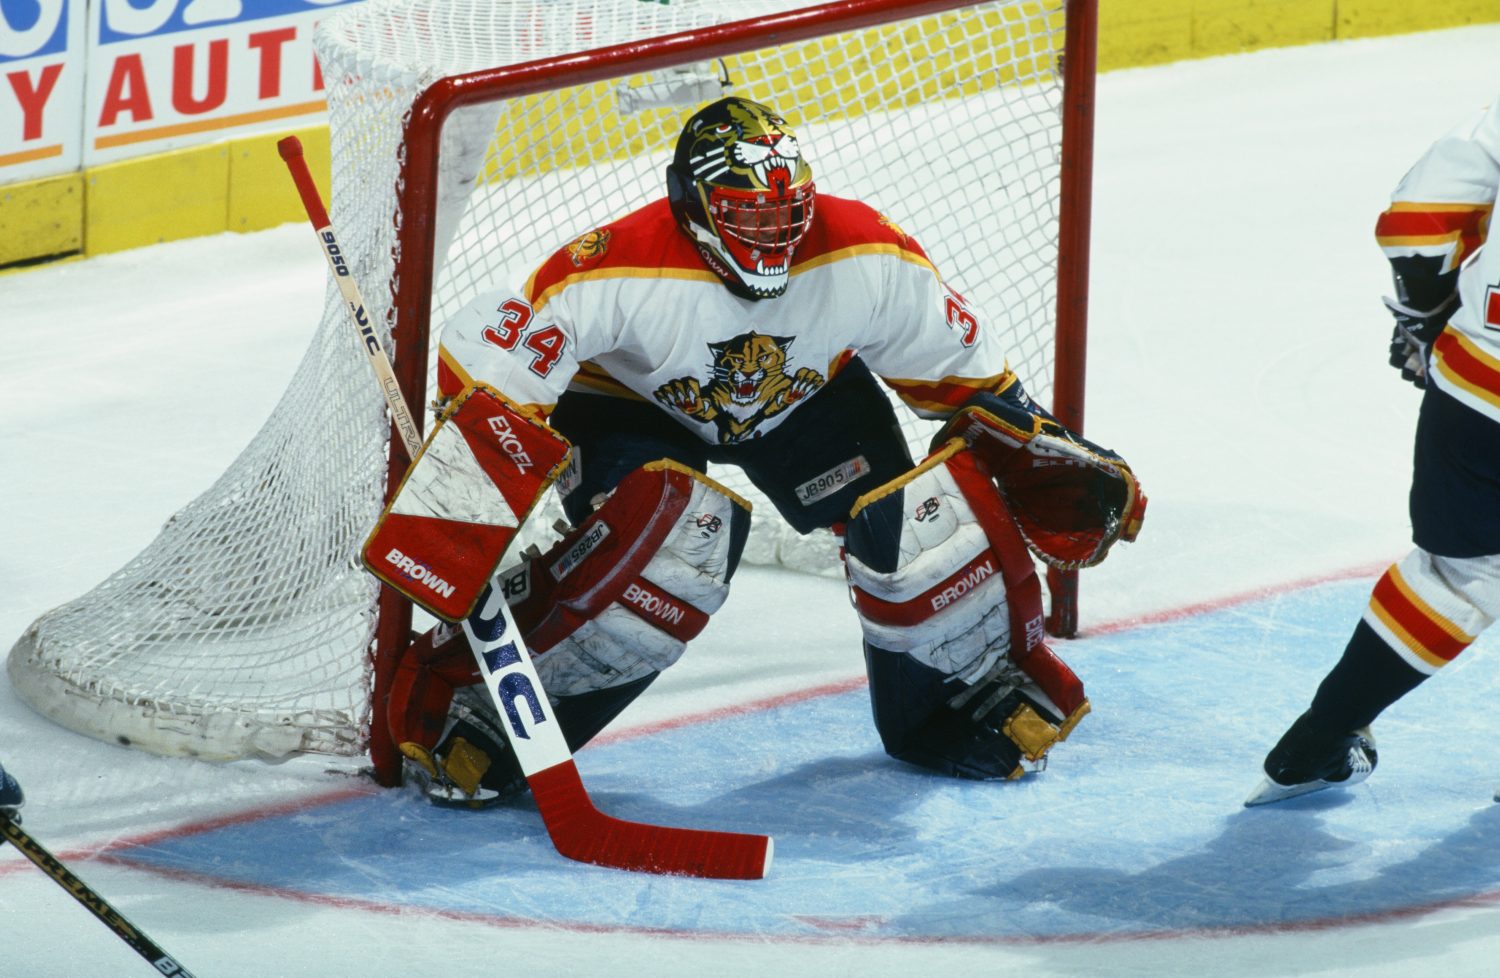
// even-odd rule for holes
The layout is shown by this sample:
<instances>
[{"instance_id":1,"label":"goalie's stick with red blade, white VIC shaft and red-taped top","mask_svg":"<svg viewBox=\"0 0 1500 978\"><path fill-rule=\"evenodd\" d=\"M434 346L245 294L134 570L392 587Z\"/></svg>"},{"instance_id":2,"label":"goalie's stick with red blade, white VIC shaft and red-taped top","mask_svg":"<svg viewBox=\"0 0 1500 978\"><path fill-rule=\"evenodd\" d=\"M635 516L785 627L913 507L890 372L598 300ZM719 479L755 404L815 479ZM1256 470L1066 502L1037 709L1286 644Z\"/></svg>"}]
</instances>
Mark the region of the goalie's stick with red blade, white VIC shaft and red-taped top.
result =
<instances>
[{"instance_id":1,"label":"goalie's stick with red blade, white VIC shaft and red-taped top","mask_svg":"<svg viewBox=\"0 0 1500 978\"><path fill-rule=\"evenodd\" d=\"M276 147L291 171L354 327L360 332L406 453L416 459L422 436L396 382L390 357L369 326L358 285L308 171L302 142L297 136L286 136ZM708 879L762 879L766 874L772 854L766 836L627 822L594 807L498 580L490 582L464 622L464 634L484 676L484 688L504 718L510 748L526 776L542 822L560 854L579 862L642 873Z\"/></svg>"}]
</instances>

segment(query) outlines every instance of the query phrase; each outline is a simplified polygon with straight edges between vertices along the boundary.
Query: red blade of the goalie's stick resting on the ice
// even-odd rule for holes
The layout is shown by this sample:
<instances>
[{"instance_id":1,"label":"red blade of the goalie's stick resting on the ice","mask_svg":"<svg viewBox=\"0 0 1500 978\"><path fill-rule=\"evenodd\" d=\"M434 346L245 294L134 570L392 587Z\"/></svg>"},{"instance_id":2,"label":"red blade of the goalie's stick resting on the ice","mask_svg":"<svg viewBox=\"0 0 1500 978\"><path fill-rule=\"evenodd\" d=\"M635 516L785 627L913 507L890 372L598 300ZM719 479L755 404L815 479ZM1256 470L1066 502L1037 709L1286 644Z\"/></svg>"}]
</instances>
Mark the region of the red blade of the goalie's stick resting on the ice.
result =
<instances>
[{"instance_id":1,"label":"red blade of the goalie's stick resting on the ice","mask_svg":"<svg viewBox=\"0 0 1500 978\"><path fill-rule=\"evenodd\" d=\"M764 879L766 836L627 822L594 807L572 760L526 778L552 844L570 860L636 873L700 879Z\"/></svg>"}]
</instances>

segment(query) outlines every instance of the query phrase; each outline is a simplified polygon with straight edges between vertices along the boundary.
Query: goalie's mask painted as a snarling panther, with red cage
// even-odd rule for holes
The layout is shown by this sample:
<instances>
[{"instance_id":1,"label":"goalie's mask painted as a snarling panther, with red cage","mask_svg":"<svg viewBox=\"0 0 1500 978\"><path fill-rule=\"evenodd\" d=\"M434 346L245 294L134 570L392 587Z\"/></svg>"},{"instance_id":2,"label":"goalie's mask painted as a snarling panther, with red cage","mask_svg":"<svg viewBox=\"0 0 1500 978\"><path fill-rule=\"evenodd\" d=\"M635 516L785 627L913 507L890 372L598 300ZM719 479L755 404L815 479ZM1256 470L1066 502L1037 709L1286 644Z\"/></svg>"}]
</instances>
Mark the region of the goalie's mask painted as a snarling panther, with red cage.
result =
<instances>
[{"instance_id":1,"label":"goalie's mask painted as a snarling panther, with red cage","mask_svg":"<svg viewBox=\"0 0 1500 978\"><path fill-rule=\"evenodd\" d=\"M666 186L678 226L735 296L786 291L814 188L784 118L748 99L700 108L682 128Z\"/></svg>"}]
</instances>

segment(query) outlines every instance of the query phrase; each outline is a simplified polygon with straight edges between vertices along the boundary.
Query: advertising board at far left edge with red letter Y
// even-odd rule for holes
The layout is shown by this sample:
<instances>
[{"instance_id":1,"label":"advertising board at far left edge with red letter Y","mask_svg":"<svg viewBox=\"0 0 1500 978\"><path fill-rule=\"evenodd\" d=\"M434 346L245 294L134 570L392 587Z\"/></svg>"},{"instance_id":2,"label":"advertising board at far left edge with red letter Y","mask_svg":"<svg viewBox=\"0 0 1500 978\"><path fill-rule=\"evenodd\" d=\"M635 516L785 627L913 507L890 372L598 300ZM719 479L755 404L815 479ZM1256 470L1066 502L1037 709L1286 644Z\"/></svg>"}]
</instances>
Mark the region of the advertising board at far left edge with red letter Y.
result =
<instances>
[{"instance_id":1,"label":"advertising board at far left edge with red letter Y","mask_svg":"<svg viewBox=\"0 0 1500 978\"><path fill-rule=\"evenodd\" d=\"M0 0L0 183L82 160L86 0Z\"/></svg>"}]
</instances>

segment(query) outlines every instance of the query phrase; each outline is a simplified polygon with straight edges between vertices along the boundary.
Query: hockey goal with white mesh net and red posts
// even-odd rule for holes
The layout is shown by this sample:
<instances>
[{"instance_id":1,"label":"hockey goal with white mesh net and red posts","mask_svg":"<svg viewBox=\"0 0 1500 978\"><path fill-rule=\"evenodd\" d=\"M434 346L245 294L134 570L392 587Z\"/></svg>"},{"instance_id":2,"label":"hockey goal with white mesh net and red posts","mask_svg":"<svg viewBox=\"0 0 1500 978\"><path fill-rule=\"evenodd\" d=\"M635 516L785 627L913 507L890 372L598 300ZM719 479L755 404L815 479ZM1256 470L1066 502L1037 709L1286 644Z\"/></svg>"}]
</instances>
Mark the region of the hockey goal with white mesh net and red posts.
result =
<instances>
[{"instance_id":1,"label":"hockey goal with white mesh net and red posts","mask_svg":"<svg viewBox=\"0 0 1500 978\"><path fill-rule=\"evenodd\" d=\"M1065 352L1059 368L1054 350L1059 264L1074 262L1077 288L1086 274L1074 252L1088 176L1066 189L1064 142L1086 162L1092 10L366 0L316 36L330 213L420 408L448 315L482 290L519 288L561 244L662 196L682 120L741 94L792 122L819 190L864 200L914 234L1010 330L1028 388L1077 423L1059 399L1082 411L1082 358ZM1070 60L1086 60L1066 99L1065 39ZM1064 124L1065 104L1082 126ZM1065 318L1076 286L1062 288ZM330 282L302 366L232 466L142 554L21 636L9 674L28 704L156 753L369 752L392 777L381 664L406 640L411 610L360 568L358 549L406 459L346 315ZM928 429L914 418L908 434L921 458ZM754 498L736 472L714 474ZM836 573L831 538L784 531L770 504L756 518L748 560Z\"/></svg>"}]
</instances>

